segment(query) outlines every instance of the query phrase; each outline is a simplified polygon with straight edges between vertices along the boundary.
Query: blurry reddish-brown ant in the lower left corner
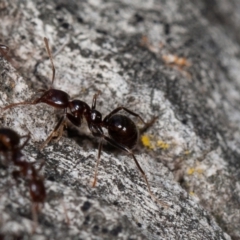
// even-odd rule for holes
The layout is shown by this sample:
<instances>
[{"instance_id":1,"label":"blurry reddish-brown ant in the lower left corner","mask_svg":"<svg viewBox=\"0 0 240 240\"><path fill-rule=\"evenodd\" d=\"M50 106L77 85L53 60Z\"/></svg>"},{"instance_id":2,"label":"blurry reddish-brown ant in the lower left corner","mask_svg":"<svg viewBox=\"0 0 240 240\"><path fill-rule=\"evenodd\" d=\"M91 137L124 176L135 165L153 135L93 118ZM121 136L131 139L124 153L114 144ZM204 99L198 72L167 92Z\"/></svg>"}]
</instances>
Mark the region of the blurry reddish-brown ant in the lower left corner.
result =
<instances>
[{"instance_id":1,"label":"blurry reddish-brown ant in the lower left corner","mask_svg":"<svg viewBox=\"0 0 240 240\"><path fill-rule=\"evenodd\" d=\"M21 138L27 138L22 145L20 145ZM28 143L29 139L29 135L20 137L15 131L9 128L0 128L0 153L5 156L6 160L12 161L12 163L19 168L13 172L13 177L17 179L21 176L28 181L29 193L33 203L32 214L35 223L33 231L35 231L37 212L39 211L39 206L44 204L46 191L43 179L38 176L38 172L43 165L36 170L33 163L26 161L21 151Z\"/></svg>"}]
</instances>

